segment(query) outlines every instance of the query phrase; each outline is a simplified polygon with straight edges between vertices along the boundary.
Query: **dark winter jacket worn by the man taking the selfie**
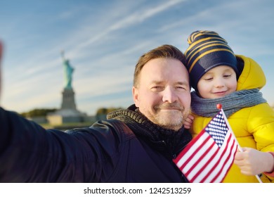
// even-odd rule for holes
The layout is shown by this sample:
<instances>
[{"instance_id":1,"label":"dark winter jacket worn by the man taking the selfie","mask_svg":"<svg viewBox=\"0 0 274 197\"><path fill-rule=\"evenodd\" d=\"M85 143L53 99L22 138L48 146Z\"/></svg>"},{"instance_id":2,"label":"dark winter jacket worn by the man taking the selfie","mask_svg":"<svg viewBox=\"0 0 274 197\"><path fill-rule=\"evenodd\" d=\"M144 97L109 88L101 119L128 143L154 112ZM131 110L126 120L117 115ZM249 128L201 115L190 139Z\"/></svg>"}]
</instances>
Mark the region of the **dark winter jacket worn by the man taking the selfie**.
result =
<instances>
[{"instance_id":1,"label":"dark winter jacket worn by the man taking the selfie","mask_svg":"<svg viewBox=\"0 0 274 197\"><path fill-rule=\"evenodd\" d=\"M188 131L163 129L134 106L108 117L62 132L0 108L0 182L185 182L172 159Z\"/></svg>"}]
</instances>

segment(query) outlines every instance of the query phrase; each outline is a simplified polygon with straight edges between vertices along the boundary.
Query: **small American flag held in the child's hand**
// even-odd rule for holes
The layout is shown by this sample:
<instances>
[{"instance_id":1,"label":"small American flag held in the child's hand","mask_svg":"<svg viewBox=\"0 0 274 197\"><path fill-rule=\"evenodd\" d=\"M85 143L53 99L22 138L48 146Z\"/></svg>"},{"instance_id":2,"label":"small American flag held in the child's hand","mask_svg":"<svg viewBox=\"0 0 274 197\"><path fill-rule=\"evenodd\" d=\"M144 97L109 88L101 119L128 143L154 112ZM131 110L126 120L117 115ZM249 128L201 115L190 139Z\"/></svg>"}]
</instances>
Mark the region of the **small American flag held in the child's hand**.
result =
<instances>
[{"instance_id":1,"label":"small American flag held in the child's hand","mask_svg":"<svg viewBox=\"0 0 274 197\"><path fill-rule=\"evenodd\" d=\"M222 182L233 164L237 146L226 115L220 110L174 163L189 182Z\"/></svg>"}]
</instances>

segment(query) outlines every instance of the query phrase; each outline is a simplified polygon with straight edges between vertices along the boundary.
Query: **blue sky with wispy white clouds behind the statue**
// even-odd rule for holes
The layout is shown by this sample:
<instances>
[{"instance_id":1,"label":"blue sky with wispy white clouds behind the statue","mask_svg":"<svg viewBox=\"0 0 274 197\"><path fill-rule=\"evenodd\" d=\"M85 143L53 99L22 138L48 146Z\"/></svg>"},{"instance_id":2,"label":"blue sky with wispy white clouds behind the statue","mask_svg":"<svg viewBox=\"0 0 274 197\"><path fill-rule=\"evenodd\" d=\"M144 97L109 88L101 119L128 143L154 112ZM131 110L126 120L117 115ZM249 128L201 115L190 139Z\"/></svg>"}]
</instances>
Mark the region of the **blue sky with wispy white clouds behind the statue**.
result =
<instances>
[{"instance_id":1,"label":"blue sky with wispy white clouds behind the statue","mask_svg":"<svg viewBox=\"0 0 274 197\"><path fill-rule=\"evenodd\" d=\"M65 51L78 110L127 108L138 58L162 44L185 51L196 30L218 32L236 54L259 63L272 106L273 10L273 0L0 0L1 106L60 108Z\"/></svg>"}]
</instances>

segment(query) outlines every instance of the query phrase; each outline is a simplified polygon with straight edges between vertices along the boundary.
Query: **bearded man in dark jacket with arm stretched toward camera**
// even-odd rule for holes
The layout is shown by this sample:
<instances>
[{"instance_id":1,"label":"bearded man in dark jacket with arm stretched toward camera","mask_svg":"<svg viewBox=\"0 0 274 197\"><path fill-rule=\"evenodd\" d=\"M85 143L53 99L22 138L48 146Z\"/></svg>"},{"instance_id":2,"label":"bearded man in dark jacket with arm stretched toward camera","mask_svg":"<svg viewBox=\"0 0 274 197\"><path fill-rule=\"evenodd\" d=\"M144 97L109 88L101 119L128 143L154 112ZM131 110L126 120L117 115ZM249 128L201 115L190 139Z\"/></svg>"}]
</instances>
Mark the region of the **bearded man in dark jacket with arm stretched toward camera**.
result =
<instances>
[{"instance_id":1,"label":"bearded man in dark jacket with arm stretched toward camera","mask_svg":"<svg viewBox=\"0 0 274 197\"><path fill-rule=\"evenodd\" d=\"M170 45L145 53L135 105L89 128L46 130L0 108L0 182L187 182L172 161L191 139L184 62Z\"/></svg>"}]
</instances>

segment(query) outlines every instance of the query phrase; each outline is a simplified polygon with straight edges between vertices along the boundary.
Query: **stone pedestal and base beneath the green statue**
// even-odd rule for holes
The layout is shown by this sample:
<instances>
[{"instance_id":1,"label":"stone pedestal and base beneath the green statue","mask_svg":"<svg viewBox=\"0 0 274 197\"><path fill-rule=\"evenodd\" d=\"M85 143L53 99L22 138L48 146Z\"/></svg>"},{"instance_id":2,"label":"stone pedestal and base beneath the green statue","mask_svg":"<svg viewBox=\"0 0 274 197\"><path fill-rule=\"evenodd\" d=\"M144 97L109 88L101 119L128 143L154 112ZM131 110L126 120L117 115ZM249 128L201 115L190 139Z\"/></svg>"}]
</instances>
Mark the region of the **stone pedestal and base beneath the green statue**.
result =
<instances>
[{"instance_id":1,"label":"stone pedestal and base beneath the green statue","mask_svg":"<svg viewBox=\"0 0 274 197\"><path fill-rule=\"evenodd\" d=\"M84 122L86 113L81 113L76 108L73 89L64 89L62 92L62 104L60 110L47 115L48 122L51 125L62 125L67 122Z\"/></svg>"}]
</instances>

